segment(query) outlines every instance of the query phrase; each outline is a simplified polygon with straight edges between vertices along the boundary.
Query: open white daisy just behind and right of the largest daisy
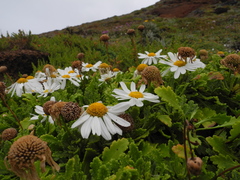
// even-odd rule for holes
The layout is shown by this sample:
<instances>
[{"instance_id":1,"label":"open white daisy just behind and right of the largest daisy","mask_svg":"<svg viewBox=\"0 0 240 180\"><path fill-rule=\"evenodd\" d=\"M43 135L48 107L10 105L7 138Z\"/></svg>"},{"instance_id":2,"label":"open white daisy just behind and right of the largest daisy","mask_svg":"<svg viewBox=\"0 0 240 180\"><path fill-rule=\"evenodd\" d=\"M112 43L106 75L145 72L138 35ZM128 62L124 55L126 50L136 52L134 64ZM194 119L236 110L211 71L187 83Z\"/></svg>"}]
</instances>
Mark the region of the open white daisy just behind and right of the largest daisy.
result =
<instances>
[{"instance_id":1,"label":"open white daisy just behind and right of the largest daisy","mask_svg":"<svg viewBox=\"0 0 240 180\"><path fill-rule=\"evenodd\" d=\"M114 89L113 92L115 94L112 94L115 98L118 100L128 100L130 106L143 106L143 101L150 101L154 103L159 103L159 97L157 95L144 92L146 89L146 85L142 84L140 86L139 91L136 89L136 84L134 82L131 82L130 90L127 88L126 84L124 82L120 82L120 85L122 87L121 89Z\"/></svg>"}]
</instances>

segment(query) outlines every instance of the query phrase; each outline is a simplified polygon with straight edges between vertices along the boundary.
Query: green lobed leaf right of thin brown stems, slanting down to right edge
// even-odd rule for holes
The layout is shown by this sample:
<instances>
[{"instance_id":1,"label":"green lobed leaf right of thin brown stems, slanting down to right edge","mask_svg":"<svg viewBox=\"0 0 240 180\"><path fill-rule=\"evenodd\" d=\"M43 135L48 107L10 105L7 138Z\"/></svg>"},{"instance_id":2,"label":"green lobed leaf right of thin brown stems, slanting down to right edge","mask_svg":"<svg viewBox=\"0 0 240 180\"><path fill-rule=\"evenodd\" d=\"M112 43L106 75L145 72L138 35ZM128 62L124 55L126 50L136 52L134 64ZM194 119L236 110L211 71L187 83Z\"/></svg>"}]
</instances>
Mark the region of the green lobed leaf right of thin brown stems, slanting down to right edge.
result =
<instances>
[{"instance_id":1,"label":"green lobed leaf right of thin brown stems, slanting down to right edge","mask_svg":"<svg viewBox=\"0 0 240 180\"><path fill-rule=\"evenodd\" d=\"M222 137L214 135L213 137L207 137L206 140L213 147L214 151L223 155L228 155L233 159L237 159L230 149L228 149L228 146Z\"/></svg>"}]
</instances>

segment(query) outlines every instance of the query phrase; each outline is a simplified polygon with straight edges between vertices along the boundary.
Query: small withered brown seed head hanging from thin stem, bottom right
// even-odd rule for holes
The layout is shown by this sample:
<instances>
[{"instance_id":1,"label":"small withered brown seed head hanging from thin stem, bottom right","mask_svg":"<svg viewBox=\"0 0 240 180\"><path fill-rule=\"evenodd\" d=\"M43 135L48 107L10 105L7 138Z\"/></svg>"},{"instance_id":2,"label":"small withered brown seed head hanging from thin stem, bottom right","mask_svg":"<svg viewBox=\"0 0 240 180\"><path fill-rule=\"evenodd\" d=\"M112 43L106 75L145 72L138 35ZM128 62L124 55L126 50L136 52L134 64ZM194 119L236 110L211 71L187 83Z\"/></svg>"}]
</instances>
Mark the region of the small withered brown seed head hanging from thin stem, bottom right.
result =
<instances>
[{"instance_id":1,"label":"small withered brown seed head hanging from thin stem, bottom right","mask_svg":"<svg viewBox=\"0 0 240 180\"><path fill-rule=\"evenodd\" d=\"M199 175L202 170L203 161L199 157L188 158L187 167L191 174Z\"/></svg>"}]
</instances>

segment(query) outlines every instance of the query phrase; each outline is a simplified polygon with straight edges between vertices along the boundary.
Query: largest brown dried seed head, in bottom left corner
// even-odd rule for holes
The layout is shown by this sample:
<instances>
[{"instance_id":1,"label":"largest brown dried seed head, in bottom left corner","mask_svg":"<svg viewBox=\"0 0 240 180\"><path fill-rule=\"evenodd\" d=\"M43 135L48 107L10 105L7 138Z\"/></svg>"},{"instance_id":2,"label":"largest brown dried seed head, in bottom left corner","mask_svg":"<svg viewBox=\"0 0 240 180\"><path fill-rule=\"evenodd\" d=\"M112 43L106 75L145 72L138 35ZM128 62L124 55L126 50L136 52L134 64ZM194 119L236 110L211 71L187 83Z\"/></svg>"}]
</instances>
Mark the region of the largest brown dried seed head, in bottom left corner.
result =
<instances>
[{"instance_id":1,"label":"largest brown dried seed head, in bottom left corner","mask_svg":"<svg viewBox=\"0 0 240 180\"><path fill-rule=\"evenodd\" d=\"M7 163L8 160L8 163ZM45 162L59 171L60 167L51 157L51 150L47 143L36 136L26 135L15 141L5 157L5 166L17 176L27 180L39 180L34 162L40 160L42 172L45 171ZM9 167L10 165L10 167Z\"/></svg>"}]
</instances>

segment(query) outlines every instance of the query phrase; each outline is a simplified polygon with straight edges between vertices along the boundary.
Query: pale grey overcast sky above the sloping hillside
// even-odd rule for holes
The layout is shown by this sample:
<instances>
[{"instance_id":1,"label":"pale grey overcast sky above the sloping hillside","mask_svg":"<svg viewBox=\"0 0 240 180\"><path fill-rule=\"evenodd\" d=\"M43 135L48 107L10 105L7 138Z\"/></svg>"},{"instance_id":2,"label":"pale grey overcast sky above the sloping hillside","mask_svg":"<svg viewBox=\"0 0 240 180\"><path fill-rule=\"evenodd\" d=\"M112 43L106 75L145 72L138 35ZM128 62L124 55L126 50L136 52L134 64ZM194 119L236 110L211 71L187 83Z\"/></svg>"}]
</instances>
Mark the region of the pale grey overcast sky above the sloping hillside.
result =
<instances>
[{"instance_id":1,"label":"pale grey overcast sky above the sloping hillside","mask_svg":"<svg viewBox=\"0 0 240 180\"><path fill-rule=\"evenodd\" d=\"M159 0L1 0L0 34L32 34L131 13Z\"/></svg>"}]
</instances>

